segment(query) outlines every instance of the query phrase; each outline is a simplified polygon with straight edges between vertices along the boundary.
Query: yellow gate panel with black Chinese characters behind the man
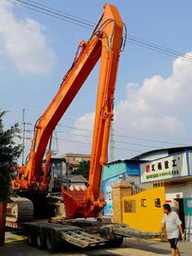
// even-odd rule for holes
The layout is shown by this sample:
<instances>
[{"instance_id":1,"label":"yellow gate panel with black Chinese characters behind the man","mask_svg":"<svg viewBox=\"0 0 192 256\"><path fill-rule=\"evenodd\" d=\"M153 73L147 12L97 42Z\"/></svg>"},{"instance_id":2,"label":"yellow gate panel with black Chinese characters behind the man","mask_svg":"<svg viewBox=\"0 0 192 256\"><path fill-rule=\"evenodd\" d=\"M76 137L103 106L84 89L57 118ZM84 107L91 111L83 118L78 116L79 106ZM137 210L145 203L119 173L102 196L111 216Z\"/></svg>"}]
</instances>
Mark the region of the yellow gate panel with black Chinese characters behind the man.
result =
<instances>
[{"instance_id":1,"label":"yellow gate panel with black Chinese characters behind the man","mask_svg":"<svg viewBox=\"0 0 192 256\"><path fill-rule=\"evenodd\" d=\"M124 224L132 229L159 232L164 216L162 210L166 203L166 188L138 192L122 198L122 217Z\"/></svg>"}]
</instances>

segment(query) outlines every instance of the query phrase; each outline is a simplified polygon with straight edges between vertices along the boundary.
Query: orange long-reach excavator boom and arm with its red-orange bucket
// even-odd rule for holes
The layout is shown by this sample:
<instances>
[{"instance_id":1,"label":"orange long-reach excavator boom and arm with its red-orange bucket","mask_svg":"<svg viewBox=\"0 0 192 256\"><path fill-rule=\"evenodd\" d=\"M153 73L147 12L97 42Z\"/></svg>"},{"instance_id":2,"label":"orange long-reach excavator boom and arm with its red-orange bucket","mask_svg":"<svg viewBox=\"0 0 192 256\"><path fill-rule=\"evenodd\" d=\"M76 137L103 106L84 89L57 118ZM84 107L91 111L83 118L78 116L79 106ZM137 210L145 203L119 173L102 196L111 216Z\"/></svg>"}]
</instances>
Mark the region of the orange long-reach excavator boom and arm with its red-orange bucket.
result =
<instances>
[{"instance_id":1,"label":"orange long-reach excavator boom and arm with its red-orange bucket","mask_svg":"<svg viewBox=\"0 0 192 256\"><path fill-rule=\"evenodd\" d=\"M100 58L89 183L85 191L61 188L68 218L96 217L106 204L102 195L99 196L99 186L102 166L107 162L110 126L113 119L113 95L122 34L123 22L118 10L106 4L91 38L87 42L80 42L76 58L63 77L58 93L45 110L44 115L37 121L27 164L18 168L18 175L12 181L12 187L15 190L32 191L36 188L40 192L46 191L50 153L46 155L44 169L42 161L48 140Z\"/></svg>"}]
</instances>

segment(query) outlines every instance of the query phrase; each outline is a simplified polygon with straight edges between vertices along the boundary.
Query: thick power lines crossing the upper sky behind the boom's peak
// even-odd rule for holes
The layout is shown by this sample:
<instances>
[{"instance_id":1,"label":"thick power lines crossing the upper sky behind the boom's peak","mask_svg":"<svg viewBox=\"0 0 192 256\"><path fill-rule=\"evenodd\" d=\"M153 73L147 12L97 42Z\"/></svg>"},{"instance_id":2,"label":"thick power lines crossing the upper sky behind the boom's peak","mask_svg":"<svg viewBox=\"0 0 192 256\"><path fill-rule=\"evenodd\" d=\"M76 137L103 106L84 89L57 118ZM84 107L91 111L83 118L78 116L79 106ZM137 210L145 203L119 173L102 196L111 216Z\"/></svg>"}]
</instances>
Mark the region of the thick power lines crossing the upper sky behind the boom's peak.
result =
<instances>
[{"instance_id":1,"label":"thick power lines crossing the upper sky behind the boom's peak","mask_svg":"<svg viewBox=\"0 0 192 256\"><path fill-rule=\"evenodd\" d=\"M26 8L26 9L32 9L34 11L41 12L45 15L49 15L54 18L61 19L65 22L69 22L69 23L72 23L72 24L80 26L80 27L86 27L89 29L94 28L93 22L90 22L86 19L79 18L75 15L71 15L69 13L63 12L58 9L53 9L53 8L47 7L42 4L38 4L35 1L31 1L31 0L28 0L27 2L25 0L5 0L5 1L11 2L17 6L20 6L20 7ZM164 53L168 56L180 58L185 62L192 63L192 57L190 55L186 55L182 52L167 48L165 46L156 45L147 40L140 39L138 37L131 36L131 35L128 36L128 39L130 40L131 44L134 44L136 46L143 46L150 50Z\"/></svg>"}]
</instances>

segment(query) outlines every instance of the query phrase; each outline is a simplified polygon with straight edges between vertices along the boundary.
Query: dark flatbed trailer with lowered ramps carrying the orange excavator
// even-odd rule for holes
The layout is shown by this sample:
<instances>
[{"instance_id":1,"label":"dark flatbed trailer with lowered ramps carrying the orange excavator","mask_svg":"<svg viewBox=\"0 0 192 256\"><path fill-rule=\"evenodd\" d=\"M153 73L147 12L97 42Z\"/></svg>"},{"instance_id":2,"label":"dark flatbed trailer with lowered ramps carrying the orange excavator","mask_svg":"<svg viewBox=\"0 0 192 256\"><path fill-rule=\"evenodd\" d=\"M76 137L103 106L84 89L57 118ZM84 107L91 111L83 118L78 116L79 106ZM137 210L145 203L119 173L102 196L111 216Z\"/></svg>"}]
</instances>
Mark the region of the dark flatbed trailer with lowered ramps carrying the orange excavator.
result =
<instances>
[{"instance_id":1,"label":"dark flatbed trailer with lowered ramps carrying the orange excavator","mask_svg":"<svg viewBox=\"0 0 192 256\"><path fill-rule=\"evenodd\" d=\"M63 244L81 248L106 245L119 247L125 237L162 237L160 233L130 229L126 225L103 223L93 219L25 222L20 224L20 229L26 235L29 245L46 248L50 252L58 251Z\"/></svg>"}]
</instances>

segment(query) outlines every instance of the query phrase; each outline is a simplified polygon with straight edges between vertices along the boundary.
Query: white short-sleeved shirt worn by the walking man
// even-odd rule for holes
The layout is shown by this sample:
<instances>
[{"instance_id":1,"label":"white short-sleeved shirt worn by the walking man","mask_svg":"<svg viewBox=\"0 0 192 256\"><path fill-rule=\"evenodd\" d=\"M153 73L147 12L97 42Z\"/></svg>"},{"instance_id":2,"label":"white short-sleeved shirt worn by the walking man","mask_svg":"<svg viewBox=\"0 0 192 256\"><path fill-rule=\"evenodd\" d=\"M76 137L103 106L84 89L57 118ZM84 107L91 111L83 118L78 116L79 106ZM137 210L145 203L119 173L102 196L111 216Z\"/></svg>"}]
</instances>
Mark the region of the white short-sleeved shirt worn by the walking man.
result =
<instances>
[{"instance_id":1,"label":"white short-sleeved shirt worn by the walking man","mask_svg":"<svg viewBox=\"0 0 192 256\"><path fill-rule=\"evenodd\" d=\"M175 211L170 211L164 215L162 220L166 224L166 235L168 239L179 238L179 225L182 224L178 214Z\"/></svg>"}]
</instances>

